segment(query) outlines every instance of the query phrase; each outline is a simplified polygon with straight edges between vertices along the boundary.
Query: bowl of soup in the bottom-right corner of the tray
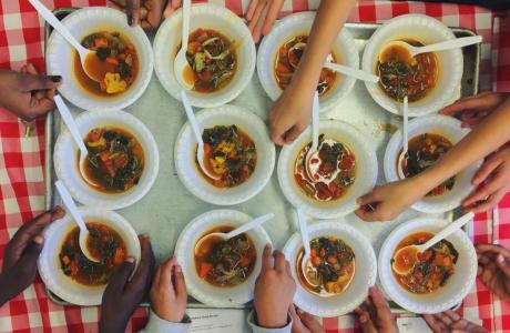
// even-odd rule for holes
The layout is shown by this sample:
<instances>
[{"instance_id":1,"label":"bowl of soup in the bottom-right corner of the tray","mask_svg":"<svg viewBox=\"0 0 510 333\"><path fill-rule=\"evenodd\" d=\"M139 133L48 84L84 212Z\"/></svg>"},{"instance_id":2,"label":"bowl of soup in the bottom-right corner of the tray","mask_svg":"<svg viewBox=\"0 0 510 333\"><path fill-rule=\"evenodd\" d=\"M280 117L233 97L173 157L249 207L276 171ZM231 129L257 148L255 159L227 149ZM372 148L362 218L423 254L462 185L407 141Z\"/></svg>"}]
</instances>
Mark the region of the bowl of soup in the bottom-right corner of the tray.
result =
<instances>
[{"instance_id":1,"label":"bowl of soup in the bottom-right corner of the tray","mask_svg":"<svg viewBox=\"0 0 510 333\"><path fill-rule=\"evenodd\" d=\"M390 300L409 312L449 310L462 302L475 283L477 253L462 230L418 253L406 270L401 270L405 261L400 255L395 256L406 245L424 244L448 223L434 216L405 222L389 234L379 251L380 284Z\"/></svg>"}]
</instances>

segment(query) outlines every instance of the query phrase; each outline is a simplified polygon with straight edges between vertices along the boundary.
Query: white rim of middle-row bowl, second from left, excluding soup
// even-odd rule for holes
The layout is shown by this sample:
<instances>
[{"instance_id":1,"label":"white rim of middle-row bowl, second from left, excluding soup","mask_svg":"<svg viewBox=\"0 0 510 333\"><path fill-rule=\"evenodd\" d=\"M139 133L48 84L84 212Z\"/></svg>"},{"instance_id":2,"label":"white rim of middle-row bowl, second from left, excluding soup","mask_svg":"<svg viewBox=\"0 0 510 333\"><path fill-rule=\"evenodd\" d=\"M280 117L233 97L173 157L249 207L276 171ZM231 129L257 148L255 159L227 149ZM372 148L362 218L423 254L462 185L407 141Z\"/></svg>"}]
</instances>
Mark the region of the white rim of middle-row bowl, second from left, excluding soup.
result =
<instances>
[{"instance_id":1,"label":"white rim of middle-row bowl, second from left, excluding soup","mask_svg":"<svg viewBox=\"0 0 510 333\"><path fill-rule=\"evenodd\" d=\"M252 176L235 188L220 189L208 183L196 165L196 140L190 122L186 122L175 140L174 160L177 175L196 198L217 205L245 202L264 189L275 167L275 145L264 122L255 114L236 105L204 109L196 113L202 129L215 125L237 125L255 143L257 164Z\"/></svg>"}]
</instances>

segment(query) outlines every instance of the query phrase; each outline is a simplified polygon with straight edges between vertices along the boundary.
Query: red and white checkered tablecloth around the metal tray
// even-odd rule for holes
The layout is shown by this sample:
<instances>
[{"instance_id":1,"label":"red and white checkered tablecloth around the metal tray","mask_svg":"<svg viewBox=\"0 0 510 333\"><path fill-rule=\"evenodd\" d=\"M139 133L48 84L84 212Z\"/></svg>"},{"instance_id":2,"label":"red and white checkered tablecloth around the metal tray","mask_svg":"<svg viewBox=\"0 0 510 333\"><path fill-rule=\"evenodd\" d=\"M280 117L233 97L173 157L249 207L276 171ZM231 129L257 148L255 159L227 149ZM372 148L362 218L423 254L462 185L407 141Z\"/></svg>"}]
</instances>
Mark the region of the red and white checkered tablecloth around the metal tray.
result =
<instances>
[{"instance_id":1,"label":"red and white checkered tablecloth around the metal tray","mask_svg":"<svg viewBox=\"0 0 510 333\"><path fill-rule=\"evenodd\" d=\"M206 0L205 0L206 1ZM49 8L104 6L105 0L42 0ZM197 1L204 2L204 0ZM249 0L210 0L242 14ZM316 9L318 0L287 0L282 16ZM483 37L480 89L510 92L510 19L489 10L457 4L360 0L349 21L380 22L405 13L425 13L448 26L465 27ZM27 62L43 70L43 21L27 0L0 0L0 68L18 70ZM0 263L9 239L18 228L43 210L44 125L35 122L32 137L24 125L0 110ZM499 205L499 223L492 214L479 214L471 236L476 243L496 242L510 248L510 195ZM491 331L510 330L510 304L491 295L479 281L460 310L479 319ZM50 302L38 279L21 295L0 307L0 332L95 332L99 309L59 306ZM128 331L145 325L146 312L135 312ZM325 319L326 332L354 332L353 316Z\"/></svg>"}]
</instances>

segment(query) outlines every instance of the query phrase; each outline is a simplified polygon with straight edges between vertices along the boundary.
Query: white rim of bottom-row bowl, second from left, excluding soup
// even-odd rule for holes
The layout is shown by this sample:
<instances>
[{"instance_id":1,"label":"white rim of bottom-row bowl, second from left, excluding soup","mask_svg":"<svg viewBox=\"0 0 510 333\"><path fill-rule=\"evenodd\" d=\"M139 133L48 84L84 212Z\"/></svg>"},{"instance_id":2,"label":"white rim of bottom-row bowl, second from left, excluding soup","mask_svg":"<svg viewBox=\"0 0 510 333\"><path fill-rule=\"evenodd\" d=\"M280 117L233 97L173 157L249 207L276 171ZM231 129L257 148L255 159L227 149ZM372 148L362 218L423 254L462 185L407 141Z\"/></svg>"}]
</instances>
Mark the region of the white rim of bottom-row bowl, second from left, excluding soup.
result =
<instances>
[{"instance_id":1,"label":"white rim of bottom-row bowl, second from left, excluding soup","mask_svg":"<svg viewBox=\"0 0 510 333\"><path fill-rule=\"evenodd\" d=\"M214 210L195 218L184 228L175 245L175 256L183 268L183 274L186 280L190 295L205 305L213 307L242 305L253 300L255 280L262 268L262 252L266 244L272 243L269 235L262 226L257 226L247 232L256 248L257 262L248 279L236 286L215 286L201 279L196 273L194 259L195 244L204 233L221 225L237 228L251 220L251 216L242 212L233 210Z\"/></svg>"}]
</instances>

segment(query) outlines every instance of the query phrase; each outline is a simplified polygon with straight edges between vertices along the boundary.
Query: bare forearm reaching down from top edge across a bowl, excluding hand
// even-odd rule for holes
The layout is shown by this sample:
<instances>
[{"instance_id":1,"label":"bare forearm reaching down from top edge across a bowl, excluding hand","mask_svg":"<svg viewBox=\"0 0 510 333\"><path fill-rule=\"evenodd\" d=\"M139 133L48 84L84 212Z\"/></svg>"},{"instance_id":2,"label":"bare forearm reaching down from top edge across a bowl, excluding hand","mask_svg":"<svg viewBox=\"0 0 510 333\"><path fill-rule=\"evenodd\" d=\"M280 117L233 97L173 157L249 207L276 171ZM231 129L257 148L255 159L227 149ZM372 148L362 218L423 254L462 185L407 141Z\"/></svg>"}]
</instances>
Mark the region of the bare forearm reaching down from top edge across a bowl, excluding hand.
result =
<instances>
[{"instance_id":1,"label":"bare forearm reaching down from top edge across a bowl, excluding hand","mask_svg":"<svg viewBox=\"0 0 510 333\"><path fill-rule=\"evenodd\" d=\"M355 0L320 1L305 52L293 78L294 84L316 89L324 62L355 3Z\"/></svg>"}]
</instances>

